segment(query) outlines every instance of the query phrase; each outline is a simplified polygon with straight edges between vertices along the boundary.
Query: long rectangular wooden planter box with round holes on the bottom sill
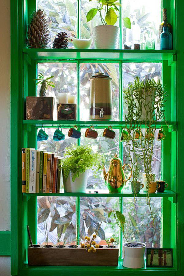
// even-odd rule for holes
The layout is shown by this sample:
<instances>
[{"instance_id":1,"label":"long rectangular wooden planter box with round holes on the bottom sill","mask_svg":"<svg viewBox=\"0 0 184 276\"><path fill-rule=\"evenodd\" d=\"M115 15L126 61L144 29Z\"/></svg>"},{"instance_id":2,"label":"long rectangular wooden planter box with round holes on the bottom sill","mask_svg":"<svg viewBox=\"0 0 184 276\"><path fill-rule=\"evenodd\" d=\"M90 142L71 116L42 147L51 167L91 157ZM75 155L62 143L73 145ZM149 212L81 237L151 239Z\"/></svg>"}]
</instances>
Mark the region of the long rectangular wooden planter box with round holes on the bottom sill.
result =
<instances>
[{"instance_id":1,"label":"long rectangular wooden planter box with round holes on the bottom sill","mask_svg":"<svg viewBox=\"0 0 184 276\"><path fill-rule=\"evenodd\" d=\"M30 266L117 266L118 248L98 248L96 253L88 253L85 248L59 248L43 246L28 247Z\"/></svg>"}]
</instances>

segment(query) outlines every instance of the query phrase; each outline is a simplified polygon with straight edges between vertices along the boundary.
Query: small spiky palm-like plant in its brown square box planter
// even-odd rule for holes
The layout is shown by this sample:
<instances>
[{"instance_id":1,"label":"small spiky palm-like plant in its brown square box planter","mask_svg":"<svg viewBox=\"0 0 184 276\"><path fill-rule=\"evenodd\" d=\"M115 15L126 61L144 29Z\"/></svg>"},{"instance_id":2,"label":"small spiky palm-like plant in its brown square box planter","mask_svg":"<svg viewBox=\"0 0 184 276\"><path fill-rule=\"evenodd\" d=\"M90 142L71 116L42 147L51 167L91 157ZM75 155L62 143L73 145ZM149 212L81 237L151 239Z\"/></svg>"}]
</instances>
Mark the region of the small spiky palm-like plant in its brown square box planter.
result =
<instances>
[{"instance_id":1,"label":"small spiky palm-like plant in its brown square box planter","mask_svg":"<svg viewBox=\"0 0 184 276\"><path fill-rule=\"evenodd\" d=\"M43 74L38 75L36 85L41 84L40 97L26 97L26 120L53 120L54 98L46 97L48 86L55 87L50 81L54 76L44 78Z\"/></svg>"}]
</instances>

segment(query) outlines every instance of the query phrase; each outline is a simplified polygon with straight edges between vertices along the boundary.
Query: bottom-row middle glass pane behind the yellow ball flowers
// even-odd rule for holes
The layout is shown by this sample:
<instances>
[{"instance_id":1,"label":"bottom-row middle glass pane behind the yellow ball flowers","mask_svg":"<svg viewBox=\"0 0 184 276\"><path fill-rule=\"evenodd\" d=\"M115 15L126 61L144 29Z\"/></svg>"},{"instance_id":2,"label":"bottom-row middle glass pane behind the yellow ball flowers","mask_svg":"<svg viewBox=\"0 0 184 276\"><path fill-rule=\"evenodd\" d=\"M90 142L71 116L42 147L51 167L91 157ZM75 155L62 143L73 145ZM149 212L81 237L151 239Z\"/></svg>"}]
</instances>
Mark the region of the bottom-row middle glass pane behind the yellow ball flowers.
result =
<instances>
[{"instance_id":1,"label":"bottom-row middle glass pane behind the yellow ball flowers","mask_svg":"<svg viewBox=\"0 0 184 276\"><path fill-rule=\"evenodd\" d=\"M81 197L80 198L80 234L84 241L85 236L92 235L99 227L96 243L106 245L105 239L114 238L114 245L119 243L119 228L113 216L108 218L111 210L119 210L117 197Z\"/></svg>"}]
</instances>

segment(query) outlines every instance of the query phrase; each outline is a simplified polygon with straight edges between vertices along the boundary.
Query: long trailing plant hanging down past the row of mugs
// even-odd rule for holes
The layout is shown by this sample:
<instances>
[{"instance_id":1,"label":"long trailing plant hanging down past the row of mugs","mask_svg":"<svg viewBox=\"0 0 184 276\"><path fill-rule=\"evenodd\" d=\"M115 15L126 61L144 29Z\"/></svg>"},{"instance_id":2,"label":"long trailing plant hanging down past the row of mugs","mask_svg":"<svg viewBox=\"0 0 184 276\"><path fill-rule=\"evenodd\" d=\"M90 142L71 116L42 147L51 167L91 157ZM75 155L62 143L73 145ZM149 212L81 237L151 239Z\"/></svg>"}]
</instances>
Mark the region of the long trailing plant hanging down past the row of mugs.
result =
<instances>
[{"instance_id":1,"label":"long trailing plant hanging down past the row of mugs","mask_svg":"<svg viewBox=\"0 0 184 276\"><path fill-rule=\"evenodd\" d=\"M144 171L147 178L147 204L150 207L149 185L151 174L153 173L153 144L156 132L156 122L166 121L164 116L164 106L166 102L166 92L161 82L154 79L140 81L138 77L134 82L128 84L124 90L125 104L128 113L125 115L125 128L128 132L128 158L133 168L132 183L135 187L140 161L144 163ZM143 125L145 127L143 128ZM140 137L136 139L136 132L140 132ZM136 200L136 189L134 189L134 199ZM151 211L151 217L154 217Z\"/></svg>"}]
</instances>

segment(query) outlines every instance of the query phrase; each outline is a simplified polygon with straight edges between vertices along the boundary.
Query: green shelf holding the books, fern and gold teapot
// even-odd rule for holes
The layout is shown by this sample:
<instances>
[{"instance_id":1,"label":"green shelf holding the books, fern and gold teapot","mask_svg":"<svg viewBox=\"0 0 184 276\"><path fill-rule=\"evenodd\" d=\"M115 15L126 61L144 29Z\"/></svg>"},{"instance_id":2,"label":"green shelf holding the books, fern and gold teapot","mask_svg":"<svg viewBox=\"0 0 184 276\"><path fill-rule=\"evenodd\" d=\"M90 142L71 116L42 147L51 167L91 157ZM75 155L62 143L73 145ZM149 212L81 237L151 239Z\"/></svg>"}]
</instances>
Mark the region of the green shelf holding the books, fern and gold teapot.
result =
<instances>
[{"instance_id":1,"label":"green shelf holding the books, fern and gold teapot","mask_svg":"<svg viewBox=\"0 0 184 276\"><path fill-rule=\"evenodd\" d=\"M97 193L98 192L98 193ZM30 194L24 193L24 196L55 196L55 197L134 197L132 191L123 190L121 193L111 194L109 190L86 190L86 193L65 193L64 190L61 190L61 193L38 193L38 194ZM137 194L137 197L146 197L146 192L141 191ZM177 194L171 190L165 190L164 193L155 193L150 194L150 197L170 197L173 202L177 201Z\"/></svg>"}]
</instances>

